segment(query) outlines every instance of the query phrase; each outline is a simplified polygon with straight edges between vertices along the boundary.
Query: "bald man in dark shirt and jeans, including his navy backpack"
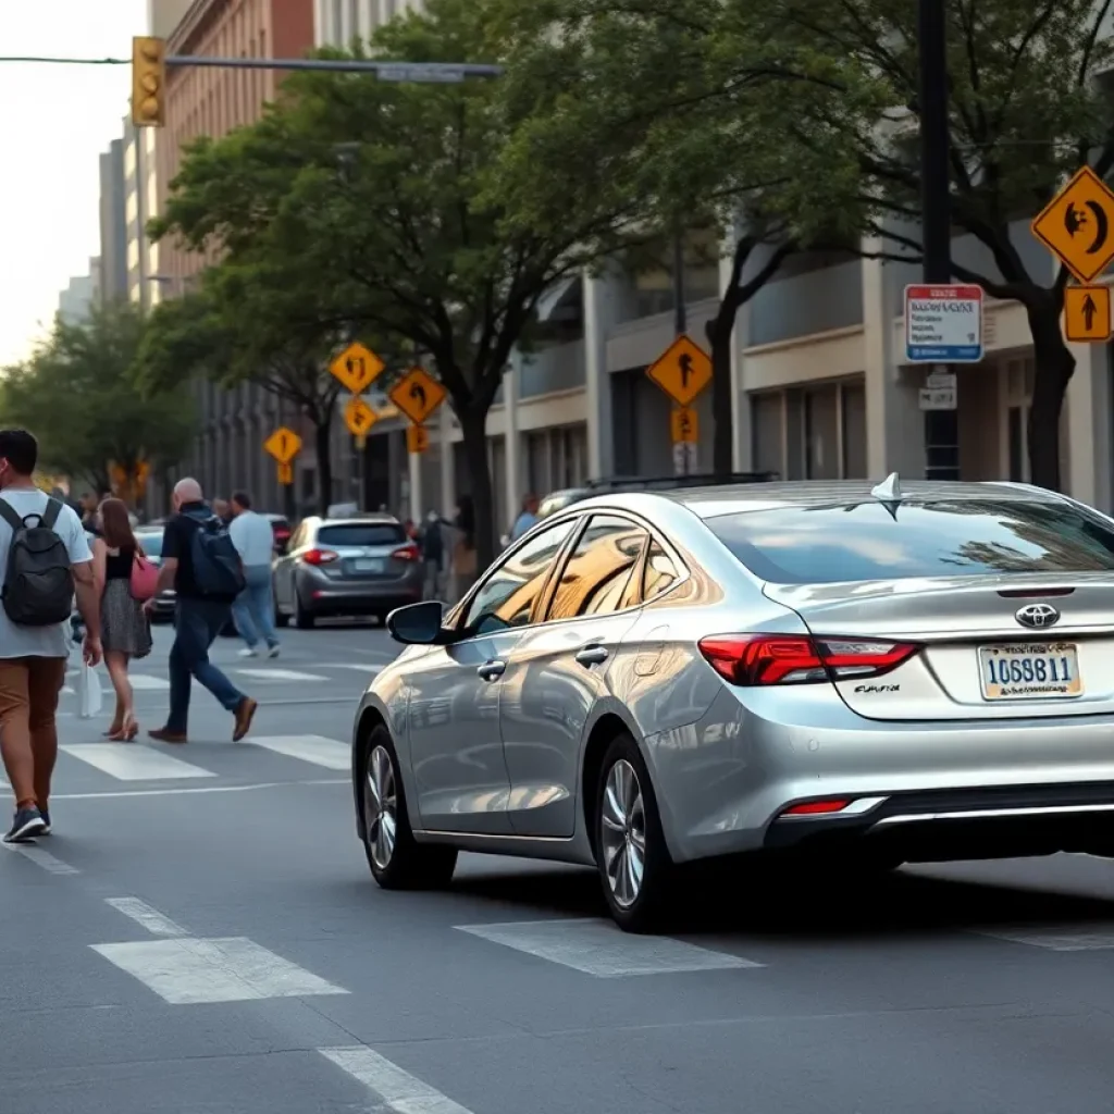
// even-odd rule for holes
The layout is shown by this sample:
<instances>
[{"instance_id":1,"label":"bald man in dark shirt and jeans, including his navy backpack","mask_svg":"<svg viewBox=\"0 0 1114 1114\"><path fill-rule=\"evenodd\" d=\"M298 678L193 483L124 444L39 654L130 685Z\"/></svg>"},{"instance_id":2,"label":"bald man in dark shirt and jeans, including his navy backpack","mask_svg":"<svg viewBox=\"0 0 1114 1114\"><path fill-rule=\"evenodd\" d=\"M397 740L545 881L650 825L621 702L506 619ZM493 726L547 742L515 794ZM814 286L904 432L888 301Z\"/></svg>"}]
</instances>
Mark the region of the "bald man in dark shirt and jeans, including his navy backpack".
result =
<instances>
[{"instance_id":1,"label":"bald man in dark shirt and jeans, including his navy backpack","mask_svg":"<svg viewBox=\"0 0 1114 1114\"><path fill-rule=\"evenodd\" d=\"M178 480L172 499L174 516L163 535L163 565L155 590L157 597L173 587L177 595L170 714L166 726L148 734L163 743L187 741L189 690L196 677L235 717L232 741L238 743L251 730L257 705L209 661L208 652L244 588L243 564L224 524L205 502L197 480Z\"/></svg>"}]
</instances>

